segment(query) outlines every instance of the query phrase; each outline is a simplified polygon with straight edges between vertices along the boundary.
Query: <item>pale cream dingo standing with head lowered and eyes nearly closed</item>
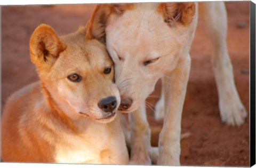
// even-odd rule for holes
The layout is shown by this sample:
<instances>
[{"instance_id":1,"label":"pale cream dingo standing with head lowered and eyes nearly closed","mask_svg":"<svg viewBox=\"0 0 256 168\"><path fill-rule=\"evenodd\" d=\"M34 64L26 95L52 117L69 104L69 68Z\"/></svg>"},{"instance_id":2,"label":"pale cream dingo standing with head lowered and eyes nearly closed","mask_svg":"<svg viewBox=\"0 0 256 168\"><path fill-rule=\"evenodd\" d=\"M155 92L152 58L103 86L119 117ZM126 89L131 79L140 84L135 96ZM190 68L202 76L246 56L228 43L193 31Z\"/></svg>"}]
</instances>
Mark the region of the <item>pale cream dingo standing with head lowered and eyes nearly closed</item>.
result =
<instances>
[{"instance_id":1,"label":"pale cream dingo standing with head lowered and eyes nearly closed","mask_svg":"<svg viewBox=\"0 0 256 168\"><path fill-rule=\"evenodd\" d=\"M247 116L235 87L227 52L225 4L130 5L130 10L120 13L111 12L114 5L98 5L87 26L93 37L106 42L115 63L115 81L122 100L132 100L131 106L121 111L133 112L129 114L131 140L127 141L131 142L130 163L151 164L151 160L155 162L158 157L158 165L180 165L181 114L190 71L189 50L198 13L203 16L214 49L212 65L221 120L229 125L241 125ZM163 81L163 94L156 105L156 118L164 118L164 124L159 135L158 153L155 153L156 148L150 147L145 100L159 78Z\"/></svg>"}]
</instances>

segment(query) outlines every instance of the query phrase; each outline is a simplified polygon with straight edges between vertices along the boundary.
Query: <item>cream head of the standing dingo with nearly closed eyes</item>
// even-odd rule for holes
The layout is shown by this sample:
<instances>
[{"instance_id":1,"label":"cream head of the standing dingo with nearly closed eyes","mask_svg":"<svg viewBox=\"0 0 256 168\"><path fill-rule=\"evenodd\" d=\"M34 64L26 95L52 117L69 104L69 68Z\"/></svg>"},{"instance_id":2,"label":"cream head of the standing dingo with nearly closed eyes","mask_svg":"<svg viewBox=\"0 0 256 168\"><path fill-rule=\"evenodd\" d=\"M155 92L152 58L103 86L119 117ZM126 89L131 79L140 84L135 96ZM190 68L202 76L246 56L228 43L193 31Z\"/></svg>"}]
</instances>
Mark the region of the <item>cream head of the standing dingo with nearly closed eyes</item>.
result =
<instances>
[{"instance_id":1,"label":"cream head of the standing dingo with nearly closed eyes","mask_svg":"<svg viewBox=\"0 0 256 168\"><path fill-rule=\"evenodd\" d=\"M195 3L138 3L95 8L87 27L91 38L106 43L115 63L122 99L119 110L137 109L157 80L189 50L196 7Z\"/></svg>"}]
</instances>

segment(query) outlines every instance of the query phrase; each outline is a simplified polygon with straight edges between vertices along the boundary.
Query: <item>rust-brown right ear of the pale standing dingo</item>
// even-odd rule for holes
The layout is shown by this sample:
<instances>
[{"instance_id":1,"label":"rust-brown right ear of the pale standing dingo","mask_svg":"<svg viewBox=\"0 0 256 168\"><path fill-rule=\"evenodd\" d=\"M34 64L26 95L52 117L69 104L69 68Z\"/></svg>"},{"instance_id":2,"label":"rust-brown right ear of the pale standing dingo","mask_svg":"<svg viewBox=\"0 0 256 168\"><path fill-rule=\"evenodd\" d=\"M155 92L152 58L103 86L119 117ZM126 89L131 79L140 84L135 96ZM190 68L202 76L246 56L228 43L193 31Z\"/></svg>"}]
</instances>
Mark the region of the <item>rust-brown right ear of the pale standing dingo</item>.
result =
<instances>
[{"instance_id":1,"label":"rust-brown right ear of the pale standing dingo","mask_svg":"<svg viewBox=\"0 0 256 168\"><path fill-rule=\"evenodd\" d=\"M181 24L187 26L193 20L195 15L194 2L182 3L161 3L158 5L157 11L164 17L164 21L171 27Z\"/></svg>"}]
</instances>

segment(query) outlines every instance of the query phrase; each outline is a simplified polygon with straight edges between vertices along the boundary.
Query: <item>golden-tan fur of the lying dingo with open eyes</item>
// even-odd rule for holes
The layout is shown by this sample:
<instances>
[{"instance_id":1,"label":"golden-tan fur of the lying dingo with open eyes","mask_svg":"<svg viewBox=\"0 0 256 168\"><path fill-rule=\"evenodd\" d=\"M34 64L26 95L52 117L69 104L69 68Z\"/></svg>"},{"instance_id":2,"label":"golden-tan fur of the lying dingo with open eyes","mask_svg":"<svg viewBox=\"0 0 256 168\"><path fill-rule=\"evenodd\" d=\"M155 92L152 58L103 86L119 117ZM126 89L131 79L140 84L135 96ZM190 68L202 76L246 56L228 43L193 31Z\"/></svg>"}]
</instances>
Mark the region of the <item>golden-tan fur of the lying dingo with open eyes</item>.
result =
<instances>
[{"instance_id":1,"label":"golden-tan fur of the lying dingo with open eyes","mask_svg":"<svg viewBox=\"0 0 256 168\"><path fill-rule=\"evenodd\" d=\"M35 29L30 56L41 80L6 102L4 162L128 164L117 108L111 116L98 107L109 96L120 103L114 65L105 46L85 39L85 33L80 28L59 37L50 26ZM103 73L106 67L112 68L110 74ZM72 73L81 81L71 82Z\"/></svg>"}]
</instances>

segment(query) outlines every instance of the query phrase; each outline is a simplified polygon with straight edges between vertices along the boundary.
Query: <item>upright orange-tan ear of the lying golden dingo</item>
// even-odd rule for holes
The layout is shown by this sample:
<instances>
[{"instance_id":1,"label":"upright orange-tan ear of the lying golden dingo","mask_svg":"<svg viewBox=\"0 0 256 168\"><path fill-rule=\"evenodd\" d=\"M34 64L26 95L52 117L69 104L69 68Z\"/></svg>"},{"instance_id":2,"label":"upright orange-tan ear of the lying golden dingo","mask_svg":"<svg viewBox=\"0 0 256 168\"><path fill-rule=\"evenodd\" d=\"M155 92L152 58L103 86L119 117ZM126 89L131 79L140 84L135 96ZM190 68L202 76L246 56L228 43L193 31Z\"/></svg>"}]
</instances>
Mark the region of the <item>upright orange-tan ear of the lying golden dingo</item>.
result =
<instances>
[{"instance_id":1,"label":"upright orange-tan ear of the lying golden dingo","mask_svg":"<svg viewBox=\"0 0 256 168\"><path fill-rule=\"evenodd\" d=\"M30 37L30 57L38 68L49 68L66 49L54 29L48 25L38 26Z\"/></svg>"}]
</instances>

